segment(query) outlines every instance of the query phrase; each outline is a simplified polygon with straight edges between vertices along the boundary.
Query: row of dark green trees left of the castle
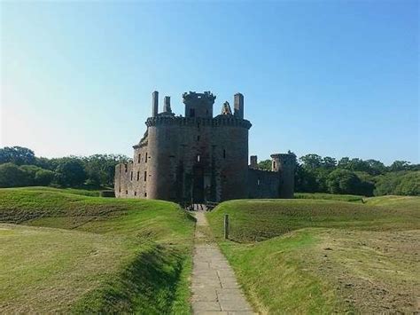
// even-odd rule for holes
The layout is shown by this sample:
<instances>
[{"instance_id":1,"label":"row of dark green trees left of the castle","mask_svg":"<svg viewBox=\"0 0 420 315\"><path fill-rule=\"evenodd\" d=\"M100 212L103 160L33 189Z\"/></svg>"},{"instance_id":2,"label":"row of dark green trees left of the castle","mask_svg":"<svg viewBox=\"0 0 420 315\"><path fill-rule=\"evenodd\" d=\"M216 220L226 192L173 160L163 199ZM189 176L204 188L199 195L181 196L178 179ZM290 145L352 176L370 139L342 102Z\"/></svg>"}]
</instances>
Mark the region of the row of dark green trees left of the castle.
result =
<instances>
[{"instance_id":1,"label":"row of dark green trees left of the castle","mask_svg":"<svg viewBox=\"0 0 420 315\"><path fill-rule=\"evenodd\" d=\"M121 154L47 159L27 147L5 146L0 148L0 187L113 187L115 165L127 161Z\"/></svg>"}]
</instances>

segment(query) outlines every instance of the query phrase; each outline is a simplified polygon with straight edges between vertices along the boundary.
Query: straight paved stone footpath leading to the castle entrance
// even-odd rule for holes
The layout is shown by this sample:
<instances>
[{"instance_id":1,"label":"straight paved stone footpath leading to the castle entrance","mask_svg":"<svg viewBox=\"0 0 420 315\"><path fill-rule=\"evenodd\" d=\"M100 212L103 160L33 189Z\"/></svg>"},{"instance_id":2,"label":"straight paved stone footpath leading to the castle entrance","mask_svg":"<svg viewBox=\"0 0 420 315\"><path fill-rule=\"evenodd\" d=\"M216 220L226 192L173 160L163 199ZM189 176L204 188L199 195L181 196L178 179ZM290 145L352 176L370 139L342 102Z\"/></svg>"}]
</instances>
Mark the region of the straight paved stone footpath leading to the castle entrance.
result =
<instances>
[{"instance_id":1,"label":"straight paved stone footpath leading to the castle entrance","mask_svg":"<svg viewBox=\"0 0 420 315\"><path fill-rule=\"evenodd\" d=\"M194 314L254 314L237 285L235 274L217 245L200 232L206 226L204 211L195 212L195 234L192 269L192 311Z\"/></svg>"}]
</instances>

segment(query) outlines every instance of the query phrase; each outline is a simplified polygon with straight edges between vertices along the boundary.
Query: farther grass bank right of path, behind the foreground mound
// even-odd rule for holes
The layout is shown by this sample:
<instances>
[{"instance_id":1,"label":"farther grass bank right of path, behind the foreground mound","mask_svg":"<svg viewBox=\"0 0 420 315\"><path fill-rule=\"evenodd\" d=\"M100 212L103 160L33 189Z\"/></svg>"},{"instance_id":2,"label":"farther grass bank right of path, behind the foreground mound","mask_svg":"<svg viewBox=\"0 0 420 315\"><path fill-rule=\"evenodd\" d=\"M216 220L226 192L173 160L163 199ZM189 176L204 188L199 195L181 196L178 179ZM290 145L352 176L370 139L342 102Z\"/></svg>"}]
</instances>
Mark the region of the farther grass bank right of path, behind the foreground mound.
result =
<instances>
[{"instance_id":1,"label":"farther grass bank right of path, behind the foreground mound","mask_svg":"<svg viewBox=\"0 0 420 315\"><path fill-rule=\"evenodd\" d=\"M420 198L411 198L420 204ZM415 207L375 207L345 201L243 200L222 202L208 219L215 236L222 237L223 215L228 214L230 240L248 242L304 227L415 229L420 222L419 212Z\"/></svg>"}]
</instances>

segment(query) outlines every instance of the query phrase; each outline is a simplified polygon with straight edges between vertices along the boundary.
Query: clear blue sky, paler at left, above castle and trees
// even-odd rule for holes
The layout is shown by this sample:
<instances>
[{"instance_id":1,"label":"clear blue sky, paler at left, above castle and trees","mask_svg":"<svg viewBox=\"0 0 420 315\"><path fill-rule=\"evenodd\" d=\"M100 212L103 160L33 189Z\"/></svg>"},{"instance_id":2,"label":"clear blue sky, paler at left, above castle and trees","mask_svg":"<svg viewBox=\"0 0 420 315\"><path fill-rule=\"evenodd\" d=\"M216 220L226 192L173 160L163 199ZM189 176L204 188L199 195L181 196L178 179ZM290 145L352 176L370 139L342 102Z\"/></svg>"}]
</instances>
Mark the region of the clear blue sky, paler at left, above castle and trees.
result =
<instances>
[{"instance_id":1,"label":"clear blue sky, paler at left, above castle and trees","mask_svg":"<svg viewBox=\"0 0 420 315\"><path fill-rule=\"evenodd\" d=\"M419 162L419 2L1 2L1 143L127 154L152 91L245 96L250 154Z\"/></svg>"}]
</instances>

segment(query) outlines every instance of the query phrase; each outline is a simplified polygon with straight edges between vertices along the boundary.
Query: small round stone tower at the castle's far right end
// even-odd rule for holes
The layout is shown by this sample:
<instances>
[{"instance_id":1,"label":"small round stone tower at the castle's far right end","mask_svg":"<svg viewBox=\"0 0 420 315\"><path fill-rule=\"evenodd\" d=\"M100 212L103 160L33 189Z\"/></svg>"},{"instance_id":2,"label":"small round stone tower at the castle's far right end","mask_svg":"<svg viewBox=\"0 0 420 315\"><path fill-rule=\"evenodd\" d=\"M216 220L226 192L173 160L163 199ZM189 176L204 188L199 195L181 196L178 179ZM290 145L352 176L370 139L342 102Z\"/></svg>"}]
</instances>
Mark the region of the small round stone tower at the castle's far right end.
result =
<instances>
[{"instance_id":1,"label":"small round stone tower at the castle's far right end","mask_svg":"<svg viewBox=\"0 0 420 315\"><path fill-rule=\"evenodd\" d=\"M294 154L271 154L271 170L279 172L280 198L293 198L294 171L296 169L296 155Z\"/></svg>"}]
</instances>

